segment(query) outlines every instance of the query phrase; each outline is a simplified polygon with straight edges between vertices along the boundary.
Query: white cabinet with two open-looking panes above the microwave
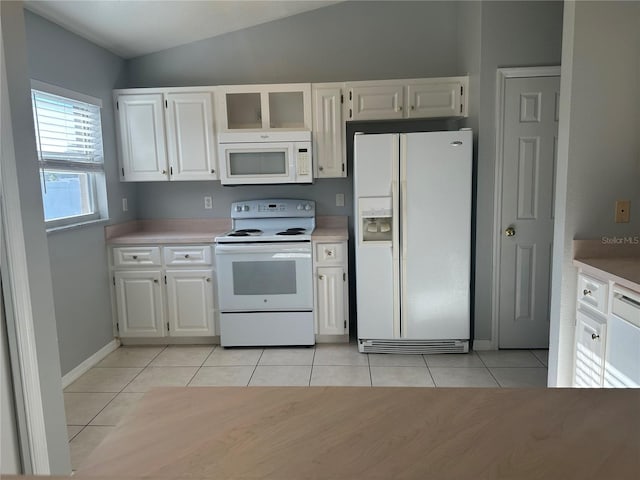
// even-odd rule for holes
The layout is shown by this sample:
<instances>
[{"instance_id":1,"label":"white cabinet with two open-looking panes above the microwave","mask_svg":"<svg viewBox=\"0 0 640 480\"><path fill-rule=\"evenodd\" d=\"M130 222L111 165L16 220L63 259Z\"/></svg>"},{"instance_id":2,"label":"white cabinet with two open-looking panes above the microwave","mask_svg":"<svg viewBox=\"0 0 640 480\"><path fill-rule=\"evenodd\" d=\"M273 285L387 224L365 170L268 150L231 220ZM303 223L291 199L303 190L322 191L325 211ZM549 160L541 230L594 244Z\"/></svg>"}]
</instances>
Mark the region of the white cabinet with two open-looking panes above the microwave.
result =
<instances>
[{"instance_id":1,"label":"white cabinet with two open-looking panes above the microwave","mask_svg":"<svg viewBox=\"0 0 640 480\"><path fill-rule=\"evenodd\" d=\"M218 87L221 132L311 130L311 84Z\"/></svg>"}]
</instances>

